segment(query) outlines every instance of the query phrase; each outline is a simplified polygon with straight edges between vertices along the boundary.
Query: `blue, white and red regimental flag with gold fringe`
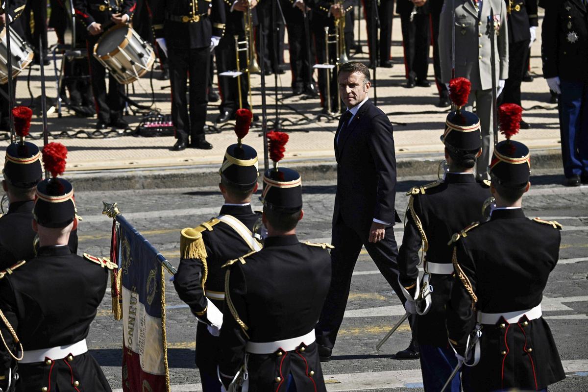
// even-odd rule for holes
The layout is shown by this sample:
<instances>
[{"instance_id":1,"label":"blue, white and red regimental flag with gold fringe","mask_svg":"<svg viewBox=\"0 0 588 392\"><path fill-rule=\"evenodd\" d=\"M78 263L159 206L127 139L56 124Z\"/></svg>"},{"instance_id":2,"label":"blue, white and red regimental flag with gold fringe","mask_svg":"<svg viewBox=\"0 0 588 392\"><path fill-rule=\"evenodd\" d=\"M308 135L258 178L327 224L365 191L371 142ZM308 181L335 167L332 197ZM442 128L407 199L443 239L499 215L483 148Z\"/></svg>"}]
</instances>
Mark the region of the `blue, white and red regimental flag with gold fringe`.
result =
<instances>
[{"instance_id":1,"label":"blue, white and red regimental flag with gold fringe","mask_svg":"<svg viewBox=\"0 0 588 392\"><path fill-rule=\"evenodd\" d=\"M112 303L123 321L122 389L169 392L163 266L153 246L119 217L111 254L119 266Z\"/></svg>"}]
</instances>

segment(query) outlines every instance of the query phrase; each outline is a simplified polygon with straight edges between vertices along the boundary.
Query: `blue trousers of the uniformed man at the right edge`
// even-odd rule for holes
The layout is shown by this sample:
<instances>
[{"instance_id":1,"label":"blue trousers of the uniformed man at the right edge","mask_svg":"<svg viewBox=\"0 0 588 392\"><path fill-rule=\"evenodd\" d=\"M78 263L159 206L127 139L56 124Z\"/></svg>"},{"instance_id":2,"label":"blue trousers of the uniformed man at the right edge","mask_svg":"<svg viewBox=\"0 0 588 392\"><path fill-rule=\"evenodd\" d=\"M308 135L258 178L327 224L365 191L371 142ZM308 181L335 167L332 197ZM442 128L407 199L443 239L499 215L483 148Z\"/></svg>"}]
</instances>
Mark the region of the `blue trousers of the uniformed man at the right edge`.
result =
<instances>
[{"instance_id":1,"label":"blue trousers of the uniformed man at the right edge","mask_svg":"<svg viewBox=\"0 0 588 392\"><path fill-rule=\"evenodd\" d=\"M559 129L563 173L567 178L588 175L588 82L561 80Z\"/></svg>"}]
</instances>

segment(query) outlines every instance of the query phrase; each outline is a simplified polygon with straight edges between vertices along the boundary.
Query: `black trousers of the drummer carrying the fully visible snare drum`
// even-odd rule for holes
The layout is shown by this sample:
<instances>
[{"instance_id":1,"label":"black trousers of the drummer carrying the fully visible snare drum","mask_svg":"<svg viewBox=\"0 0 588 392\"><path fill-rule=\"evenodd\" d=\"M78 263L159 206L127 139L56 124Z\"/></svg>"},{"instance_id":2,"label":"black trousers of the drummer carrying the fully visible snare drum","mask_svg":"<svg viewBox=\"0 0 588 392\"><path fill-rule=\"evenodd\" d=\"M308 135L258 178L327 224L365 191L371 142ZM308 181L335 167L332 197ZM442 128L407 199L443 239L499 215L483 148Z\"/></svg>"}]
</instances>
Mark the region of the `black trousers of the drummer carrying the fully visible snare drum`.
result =
<instances>
[{"instance_id":1,"label":"black trousers of the drummer carrying the fully visible snare drum","mask_svg":"<svg viewBox=\"0 0 588 392\"><path fill-rule=\"evenodd\" d=\"M106 124L116 119L122 118L122 109L125 108L125 86L117 82L114 76L108 75L108 93L106 93L106 69L92 55L94 45L102 36L88 36L86 41L88 45L88 60L90 62L90 78L92 81L92 92L96 103L96 113L98 113L98 122Z\"/></svg>"}]
</instances>

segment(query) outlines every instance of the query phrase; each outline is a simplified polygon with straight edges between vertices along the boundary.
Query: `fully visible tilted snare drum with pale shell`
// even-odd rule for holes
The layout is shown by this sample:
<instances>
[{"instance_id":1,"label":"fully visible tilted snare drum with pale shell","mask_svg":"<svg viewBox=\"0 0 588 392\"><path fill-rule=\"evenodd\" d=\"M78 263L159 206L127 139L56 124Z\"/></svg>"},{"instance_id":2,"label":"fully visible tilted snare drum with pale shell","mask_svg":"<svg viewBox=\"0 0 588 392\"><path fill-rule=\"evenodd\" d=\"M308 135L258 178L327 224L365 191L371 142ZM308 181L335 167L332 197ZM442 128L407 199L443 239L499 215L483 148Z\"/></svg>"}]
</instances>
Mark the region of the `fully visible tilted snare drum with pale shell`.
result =
<instances>
[{"instance_id":1,"label":"fully visible tilted snare drum with pale shell","mask_svg":"<svg viewBox=\"0 0 588 392\"><path fill-rule=\"evenodd\" d=\"M106 31L94 45L94 57L123 85L141 78L155 62L151 45L128 25Z\"/></svg>"}]
</instances>

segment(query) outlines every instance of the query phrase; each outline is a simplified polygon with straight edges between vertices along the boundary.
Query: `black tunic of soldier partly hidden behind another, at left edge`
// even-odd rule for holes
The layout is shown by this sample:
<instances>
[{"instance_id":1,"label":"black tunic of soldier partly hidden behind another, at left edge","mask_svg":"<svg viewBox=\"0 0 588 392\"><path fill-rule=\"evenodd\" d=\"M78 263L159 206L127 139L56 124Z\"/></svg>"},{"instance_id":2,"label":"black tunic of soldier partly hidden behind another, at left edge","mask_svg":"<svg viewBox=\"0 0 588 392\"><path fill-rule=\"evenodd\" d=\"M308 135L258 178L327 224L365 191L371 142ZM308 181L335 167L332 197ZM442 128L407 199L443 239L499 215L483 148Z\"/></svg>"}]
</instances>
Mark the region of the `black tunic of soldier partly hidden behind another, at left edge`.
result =
<instances>
[{"instance_id":1,"label":"black tunic of soldier partly hidden behind another, at left edge","mask_svg":"<svg viewBox=\"0 0 588 392\"><path fill-rule=\"evenodd\" d=\"M34 205L34 200L11 203L8 213L0 217L0 270L20 260L35 257L36 233L32 227ZM77 230L69 236L69 248L74 254L78 252Z\"/></svg>"}]
</instances>

